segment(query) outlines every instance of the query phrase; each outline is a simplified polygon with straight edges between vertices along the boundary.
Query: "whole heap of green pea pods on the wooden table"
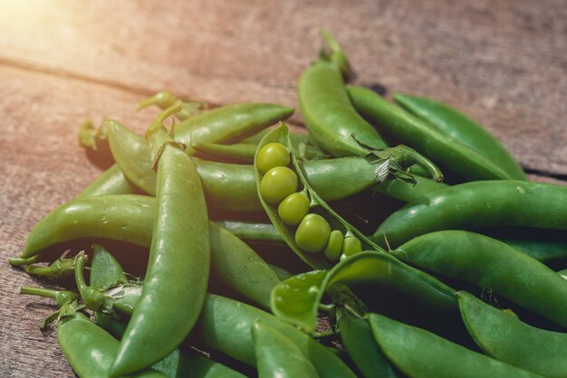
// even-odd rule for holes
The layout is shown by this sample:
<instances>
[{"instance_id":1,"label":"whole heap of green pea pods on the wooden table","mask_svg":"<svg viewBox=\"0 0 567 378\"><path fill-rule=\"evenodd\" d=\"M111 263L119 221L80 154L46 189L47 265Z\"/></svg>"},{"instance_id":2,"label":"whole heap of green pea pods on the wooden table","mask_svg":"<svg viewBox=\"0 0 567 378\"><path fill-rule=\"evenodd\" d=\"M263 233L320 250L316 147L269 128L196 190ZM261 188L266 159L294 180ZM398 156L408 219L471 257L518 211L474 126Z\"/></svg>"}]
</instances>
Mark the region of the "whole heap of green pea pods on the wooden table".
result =
<instances>
[{"instance_id":1,"label":"whole heap of green pea pods on the wooden table","mask_svg":"<svg viewBox=\"0 0 567 378\"><path fill-rule=\"evenodd\" d=\"M53 279L21 292L56 301L41 326L74 372L567 377L567 187L447 104L347 85L322 38L308 133L281 105L166 91L143 137L82 125L115 164L10 260Z\"/></svg>"}]
</instances>

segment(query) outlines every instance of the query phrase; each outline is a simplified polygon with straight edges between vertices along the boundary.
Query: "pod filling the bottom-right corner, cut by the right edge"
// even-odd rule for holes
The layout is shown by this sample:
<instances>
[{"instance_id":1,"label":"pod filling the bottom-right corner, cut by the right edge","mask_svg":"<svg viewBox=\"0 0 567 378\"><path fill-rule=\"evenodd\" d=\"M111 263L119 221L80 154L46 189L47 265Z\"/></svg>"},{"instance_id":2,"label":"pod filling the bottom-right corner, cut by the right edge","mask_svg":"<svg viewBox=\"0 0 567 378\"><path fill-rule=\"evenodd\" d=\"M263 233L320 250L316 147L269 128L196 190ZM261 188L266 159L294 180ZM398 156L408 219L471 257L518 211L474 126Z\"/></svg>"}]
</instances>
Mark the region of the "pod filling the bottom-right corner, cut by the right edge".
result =
<instances>
[{"instance_id":1,"label":"pod filling the bottom-right corner, cut by the right edge","mask_svg":"<svg viewBox=\"0 0 567 378\"><path fill-rule=\"evenodd\" d=\"M567 376L567 334L529 326L466 291L457 298L466 329L485 354L533 373Z\"/></svg>"}]
</instances>

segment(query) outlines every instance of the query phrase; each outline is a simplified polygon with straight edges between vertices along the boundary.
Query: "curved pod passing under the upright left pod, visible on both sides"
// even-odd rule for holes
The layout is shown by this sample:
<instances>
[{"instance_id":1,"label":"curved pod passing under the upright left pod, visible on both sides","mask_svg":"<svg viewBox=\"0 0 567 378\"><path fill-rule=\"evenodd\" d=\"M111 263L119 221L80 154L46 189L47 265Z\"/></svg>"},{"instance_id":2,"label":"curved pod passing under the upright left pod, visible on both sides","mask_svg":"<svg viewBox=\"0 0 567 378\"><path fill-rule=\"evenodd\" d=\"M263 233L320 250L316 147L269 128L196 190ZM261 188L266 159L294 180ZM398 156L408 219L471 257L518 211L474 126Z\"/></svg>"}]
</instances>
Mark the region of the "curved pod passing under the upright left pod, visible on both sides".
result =
<instances>
[{"instance_id":1,"label":"curved pod passing under the upright left pod, visible on both sides","mask_svg":"<svg viewBox=\"0 0 567 378\"><path fill-rule=\"evenodd\" d=\"M104 238L149 248L156 200L136 194L101 195L63 204L28 235L18 265L41 258L41 251L63 241ZM209 222L211 268L228 287L268 308L269 291L280 282L274 270L232 233ZM235 279L238 278L238 279Z\"/></svg>"}]
</instances>

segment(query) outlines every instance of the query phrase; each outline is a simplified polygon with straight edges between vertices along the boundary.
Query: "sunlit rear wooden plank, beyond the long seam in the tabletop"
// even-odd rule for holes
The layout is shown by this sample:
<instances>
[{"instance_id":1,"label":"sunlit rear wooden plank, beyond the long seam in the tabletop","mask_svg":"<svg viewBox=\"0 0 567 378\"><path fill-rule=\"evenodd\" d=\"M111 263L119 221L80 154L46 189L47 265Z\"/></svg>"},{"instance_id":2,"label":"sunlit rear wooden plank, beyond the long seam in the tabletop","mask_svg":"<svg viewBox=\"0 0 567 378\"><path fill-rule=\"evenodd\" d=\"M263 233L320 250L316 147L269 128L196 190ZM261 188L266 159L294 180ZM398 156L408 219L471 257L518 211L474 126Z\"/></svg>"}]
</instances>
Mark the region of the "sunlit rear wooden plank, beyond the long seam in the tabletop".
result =
<instances>
[{"instance_id":1,"label":"sunlit rear wooden plank, beyond the long seam in the tabletop","mask_svg":"<svg viewBox=\"0 0 567 378\"><path fill-rule=\"evenodd\" d=\"M56 6L53 6L56 5ZM0 61L217 103L295 103L326 26L357 82L446 100L523 165L567 174L562 0L9 2Z\"/></svg>"}]
</instances>

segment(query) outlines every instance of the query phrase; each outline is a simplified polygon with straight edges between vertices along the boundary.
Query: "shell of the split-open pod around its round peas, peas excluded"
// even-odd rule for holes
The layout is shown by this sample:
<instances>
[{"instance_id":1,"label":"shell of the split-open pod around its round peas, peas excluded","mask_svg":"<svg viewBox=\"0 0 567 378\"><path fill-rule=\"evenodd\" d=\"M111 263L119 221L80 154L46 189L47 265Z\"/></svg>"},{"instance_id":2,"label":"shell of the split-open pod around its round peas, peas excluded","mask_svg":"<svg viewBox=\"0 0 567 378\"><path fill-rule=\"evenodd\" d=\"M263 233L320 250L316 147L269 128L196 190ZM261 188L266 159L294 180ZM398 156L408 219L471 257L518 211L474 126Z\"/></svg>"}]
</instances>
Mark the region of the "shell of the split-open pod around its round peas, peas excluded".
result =
<instances>
[{"instance_id":1,"label":"shell of the split-open pod around its round peas, peas excluded","mask_svg":"<svg viewBox=\"0 0 567 378\"><path fill-rule=\"evenodd\" d=\"M303 190L306 192L311 201L310 207L313 208L316 206L318 210L317 213L321 215L327 222L329 222L332 230L338 229L342 232L343 235L353 235L357 237L362 242L362 248L364 250L382 250L378 245L370 241L364 234L362 234L362 232L352 227L349 222L346 222L338 213L335 213L332 208L322 200L320 195L312 189L312 186L306 178L306 174L303 171L302 166L297 163L293 146L289 138L289 129L285 124L281 124L279 128L274 128L274 130L267 133L262 141L258 144L257 151L260 151L262 147L269 143L279 143L288 149L291 156L293 172L298 176L298 181L299 183L301 183L301 186L303 186L299 188L299 191ZM255 158L255 176L258 197L260 198L260 202L264 207L264 211L268 214L270 221L274 224L275 229L281 233L283 240L287 243L287 245L312 268L331 268L334 265L334 262L332 260L328 260L322 253L306 252L297 245L297 242L295 241L296 228L285 224L278 214L277 206L267 203L264 200L262 194L260 193L260 182L263 175L257 169L257 156L258 153L256 153Z\"/></svg>"}]
</instances>

